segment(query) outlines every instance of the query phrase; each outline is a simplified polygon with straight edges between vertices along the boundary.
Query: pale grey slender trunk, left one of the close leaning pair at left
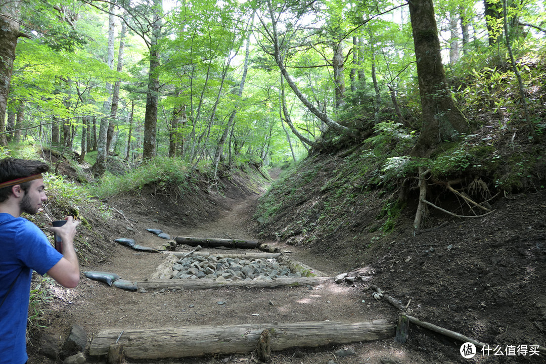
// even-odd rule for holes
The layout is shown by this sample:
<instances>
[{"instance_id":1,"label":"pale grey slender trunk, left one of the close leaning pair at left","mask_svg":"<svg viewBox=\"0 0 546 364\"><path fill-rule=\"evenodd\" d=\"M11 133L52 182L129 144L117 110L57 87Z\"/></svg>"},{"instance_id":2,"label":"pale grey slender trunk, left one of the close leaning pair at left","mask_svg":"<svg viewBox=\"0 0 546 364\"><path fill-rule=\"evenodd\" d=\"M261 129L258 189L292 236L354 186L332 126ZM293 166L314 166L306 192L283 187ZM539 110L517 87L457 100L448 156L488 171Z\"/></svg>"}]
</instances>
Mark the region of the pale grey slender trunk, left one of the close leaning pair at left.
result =
<instances>
[{"instance_id":1,"label":"pale grey slender trunk, left one of the close leaning pair at left","mask_svg":"<svg viewBox=\"0 0 546 364\"><path fill-rule=\"evenodd\" d=\"M111 3L108 18L108 59L106 60L110 69L114 69L114 19L114 3ZM111 109L110 96L112 94L112 84L110 82L106 82L106 93L108 94L108 97L103 103L103 112L105 115L108 115L110 114ZM100 118L99 135L97 139L97 160L92 167L95 176L102 176L106 171L106 158L108 157L108 150L106 150L106 135L108 135L108 125L108 118Z\"/></svg>"}]
</instances>

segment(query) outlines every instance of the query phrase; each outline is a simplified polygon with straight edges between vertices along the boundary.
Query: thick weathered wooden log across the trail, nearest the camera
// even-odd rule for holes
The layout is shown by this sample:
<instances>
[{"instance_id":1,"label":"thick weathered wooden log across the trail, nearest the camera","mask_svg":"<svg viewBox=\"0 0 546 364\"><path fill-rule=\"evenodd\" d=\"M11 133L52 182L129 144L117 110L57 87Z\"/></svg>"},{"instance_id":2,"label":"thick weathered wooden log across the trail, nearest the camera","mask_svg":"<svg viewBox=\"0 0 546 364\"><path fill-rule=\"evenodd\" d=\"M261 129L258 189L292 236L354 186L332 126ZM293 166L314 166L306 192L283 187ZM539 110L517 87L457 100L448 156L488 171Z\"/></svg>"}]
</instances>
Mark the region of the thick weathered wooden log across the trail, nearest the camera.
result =
<instances>
[{"instance_id":1,"label":"thick weathered wooden log across the trail, nearest the camera","mask_svg":"<svg viewBox=\"0 0 546 364\"><path fill-rule=\"evenodd\" d=\"M329 344L369 342L394 337L395 326L386 320L364 323L340 321L293 324L246 324L231 326L186 326L161 329L107 329L91 341L89 354L108 354L119 337L124 355L131 359L160 359L242 354L257 348L260 335L269 331L271 350L320 347Z\"/></svg>"}]
</instances>

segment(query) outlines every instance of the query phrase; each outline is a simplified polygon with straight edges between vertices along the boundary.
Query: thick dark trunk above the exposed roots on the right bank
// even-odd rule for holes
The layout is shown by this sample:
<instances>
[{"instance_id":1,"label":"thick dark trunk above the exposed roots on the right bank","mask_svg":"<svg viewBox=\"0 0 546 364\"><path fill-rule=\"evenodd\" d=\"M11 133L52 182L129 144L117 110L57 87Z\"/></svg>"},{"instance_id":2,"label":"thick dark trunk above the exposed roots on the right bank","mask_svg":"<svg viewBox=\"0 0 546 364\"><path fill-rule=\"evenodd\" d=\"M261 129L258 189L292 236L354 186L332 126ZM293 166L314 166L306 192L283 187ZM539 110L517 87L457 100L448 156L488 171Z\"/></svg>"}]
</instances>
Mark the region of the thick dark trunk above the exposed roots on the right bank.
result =
<instances>
[{"instance_id":1,"label":"thick dark trunk above the exposed roots on the right bank","mask_svg":"<svg viewBox=\"0 0 546 364\"><path fill-rule=\"evenodd\" d=\"M465 132L467 122L447 86L432 0L411 0L409 5L423 112L423 126L412 155L423 157L440 142Z\"/></svg>"}]
</instances>

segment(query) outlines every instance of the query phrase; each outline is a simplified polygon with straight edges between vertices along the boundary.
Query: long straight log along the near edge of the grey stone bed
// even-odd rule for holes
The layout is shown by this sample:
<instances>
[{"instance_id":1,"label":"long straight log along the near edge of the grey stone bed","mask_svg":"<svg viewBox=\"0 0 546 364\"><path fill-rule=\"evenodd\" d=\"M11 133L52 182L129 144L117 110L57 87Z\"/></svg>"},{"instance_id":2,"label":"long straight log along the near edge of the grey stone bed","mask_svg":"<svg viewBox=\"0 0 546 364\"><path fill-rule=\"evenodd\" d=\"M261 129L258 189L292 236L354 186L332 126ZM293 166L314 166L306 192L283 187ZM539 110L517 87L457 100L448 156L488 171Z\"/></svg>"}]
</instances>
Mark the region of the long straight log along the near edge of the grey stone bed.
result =
<instances>
[{"instance_id":1,"label":"long straight log along the near edge of the grey stone bed","mask_svg":"<svg viewBox=\"0 0 546 364\"><path fill-rule=\"evenodd\" d=\"M319 285L327 282L329 277L278 278L275 281L215 281L214 279L145 279L136 281L139 289L187 289L202 290L222 287L277 288Z\"/></svg>"}]
</instances>

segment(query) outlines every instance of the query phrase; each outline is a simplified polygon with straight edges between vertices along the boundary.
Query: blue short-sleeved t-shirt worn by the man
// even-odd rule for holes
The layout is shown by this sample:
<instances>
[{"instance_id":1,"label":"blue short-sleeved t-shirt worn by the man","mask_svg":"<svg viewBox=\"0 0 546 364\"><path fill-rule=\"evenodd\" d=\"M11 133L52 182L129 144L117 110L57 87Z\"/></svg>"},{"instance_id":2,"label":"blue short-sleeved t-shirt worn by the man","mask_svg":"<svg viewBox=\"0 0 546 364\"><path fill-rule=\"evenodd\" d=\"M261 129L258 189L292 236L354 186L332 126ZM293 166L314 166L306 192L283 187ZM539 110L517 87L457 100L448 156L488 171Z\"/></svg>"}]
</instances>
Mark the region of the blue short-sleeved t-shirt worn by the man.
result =
<instances>
[{"instance_id":1,"label":"blue short-sleeved t-shirt worn by the man","mask_svg":"<svg viewBox=\"0 0 546 364\"><path fill-rule=\"evenodd\" d=\"M61 258L38 226L25 218L0 213L0 303L5 298L0 307L0 364L28 360L26 328L32 270L44 275Z\"/></svg>"}]
</instances>

